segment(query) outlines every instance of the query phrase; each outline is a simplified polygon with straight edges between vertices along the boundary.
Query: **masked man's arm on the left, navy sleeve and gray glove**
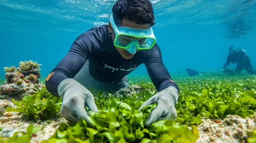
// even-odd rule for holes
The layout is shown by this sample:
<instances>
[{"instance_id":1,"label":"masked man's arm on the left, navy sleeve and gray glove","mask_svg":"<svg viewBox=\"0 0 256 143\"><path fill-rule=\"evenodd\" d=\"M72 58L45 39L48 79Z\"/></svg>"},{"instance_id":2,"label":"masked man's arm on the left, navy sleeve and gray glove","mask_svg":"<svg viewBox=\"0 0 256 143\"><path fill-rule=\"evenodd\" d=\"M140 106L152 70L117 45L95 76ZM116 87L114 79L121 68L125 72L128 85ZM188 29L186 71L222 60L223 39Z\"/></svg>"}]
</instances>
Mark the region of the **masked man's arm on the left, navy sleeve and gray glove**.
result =
<instances>
[{"instance_id":1,"label":"masked man's arm on the left, navy sleeve and gray glove","mask_svg":"<svg viewBox=\"0 0 256 143\"><path fill-rule=\"evenodd\" d=\"M106 27L106 26L105 26ZM46 79L46 88L53 96L62 98L61 115L66 120L77 122L84 119L90 126L88 120L89 110L97 112L97 106L93 94L73 77L83 67L86 60L92 56L96 49L102 45L103 27L95 27L81 34L72 44L68 54L52 70Z\"/></svg>"}]
</instances>

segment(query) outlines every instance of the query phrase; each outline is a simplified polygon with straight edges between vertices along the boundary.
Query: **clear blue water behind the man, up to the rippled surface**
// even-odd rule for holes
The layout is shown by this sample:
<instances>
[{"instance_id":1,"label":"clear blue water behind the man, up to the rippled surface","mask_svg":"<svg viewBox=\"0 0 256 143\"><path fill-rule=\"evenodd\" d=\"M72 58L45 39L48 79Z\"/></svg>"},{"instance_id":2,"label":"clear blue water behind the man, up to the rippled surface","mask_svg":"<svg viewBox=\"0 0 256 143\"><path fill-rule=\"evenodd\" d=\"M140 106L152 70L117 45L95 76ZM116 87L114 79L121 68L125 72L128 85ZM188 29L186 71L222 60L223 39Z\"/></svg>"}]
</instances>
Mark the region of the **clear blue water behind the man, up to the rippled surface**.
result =
<instances>
[{"instance_id":1,"label":"clear blue water behind the man, up to the rippled surface","mask_svg":"<svg viewBox=\"0 0 256 143\"><path fill-rule=\"evenodd\" d=\"M151 1L153 30L169 73L221 71L228 47L244 49L256 69L256 1ZM75 38L108 23L115 1L0 0L0 76L33 60L48 75ZM235 65L229 65L235 68ZM147 75L144 65L132 74Z\"/></svg>"}]
</instances>

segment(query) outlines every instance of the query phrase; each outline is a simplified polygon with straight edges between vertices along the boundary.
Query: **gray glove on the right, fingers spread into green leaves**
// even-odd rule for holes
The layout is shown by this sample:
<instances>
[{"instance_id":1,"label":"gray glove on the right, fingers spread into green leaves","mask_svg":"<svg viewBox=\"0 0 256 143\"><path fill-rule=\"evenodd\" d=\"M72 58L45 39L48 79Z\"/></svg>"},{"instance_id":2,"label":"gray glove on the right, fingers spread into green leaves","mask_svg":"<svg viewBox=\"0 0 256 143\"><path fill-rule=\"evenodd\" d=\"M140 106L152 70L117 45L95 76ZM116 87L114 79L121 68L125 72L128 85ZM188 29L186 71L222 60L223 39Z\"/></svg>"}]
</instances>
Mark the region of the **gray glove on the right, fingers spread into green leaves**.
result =
<instances>
[{"instance_id":1,"label":"gray glove on the right, fingers spread into green leaves","mask_svg":"<svg viewBox=\"0 0 256 143\"><path fill-rule=\"evenodd\" d=\"M174 103L179 98L179 92L174 86L169 86L166 89L156 93L150 99L142 104L139 110L143 107L156 103L157 106L152 110L148 117L148 121L145 126L148 127L152 123L160 120L172 119L175 120L177 117L177 111Z\"/></svg>"}]
</instances>

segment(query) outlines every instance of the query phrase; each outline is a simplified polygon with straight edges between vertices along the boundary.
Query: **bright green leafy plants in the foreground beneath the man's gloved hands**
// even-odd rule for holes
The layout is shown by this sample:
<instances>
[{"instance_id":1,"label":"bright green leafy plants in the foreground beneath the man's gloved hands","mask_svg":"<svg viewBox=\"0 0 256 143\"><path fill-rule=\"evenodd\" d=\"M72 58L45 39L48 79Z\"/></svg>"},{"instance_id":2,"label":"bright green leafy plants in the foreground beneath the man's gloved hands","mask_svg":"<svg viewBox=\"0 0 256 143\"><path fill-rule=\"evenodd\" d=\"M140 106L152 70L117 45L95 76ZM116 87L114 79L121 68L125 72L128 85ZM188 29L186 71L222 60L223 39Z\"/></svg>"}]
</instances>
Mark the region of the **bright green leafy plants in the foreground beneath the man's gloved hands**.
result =
<instances>
[{"instance_id":1,"label":"bright green leafy plants in the foreground beneath the man's gloved hands","mask_svg":"<svg viewBox=\"0 0 256 143\"><path fill-rule=\"evenodd\" d=\"M195 126L189 130L172 120L158 121L144 127L148 114L155 108L149 105L142 111L134 110L124 102L112 100L106 110L90 112L89 127L85 120L62 123L49 140L51 142L195 142L199 132Z\"/></svg>"}]
</instances>

